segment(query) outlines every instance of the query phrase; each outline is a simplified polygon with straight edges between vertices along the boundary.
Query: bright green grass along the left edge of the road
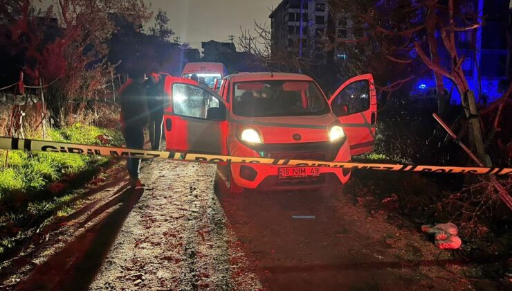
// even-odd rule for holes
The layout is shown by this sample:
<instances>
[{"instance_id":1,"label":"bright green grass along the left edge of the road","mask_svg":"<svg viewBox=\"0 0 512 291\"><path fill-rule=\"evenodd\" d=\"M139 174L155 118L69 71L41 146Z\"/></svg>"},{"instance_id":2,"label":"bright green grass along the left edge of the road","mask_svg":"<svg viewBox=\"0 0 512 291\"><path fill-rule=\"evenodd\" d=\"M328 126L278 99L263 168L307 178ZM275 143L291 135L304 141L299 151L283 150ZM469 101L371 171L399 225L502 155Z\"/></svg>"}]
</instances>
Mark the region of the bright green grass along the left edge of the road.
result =
<instances>
[{"instance_id":1,"label":"bright green grass along the left edge of the road","mask_svg":"<svg viewBox=\"0 0 512 291\"><path fill-rule=\"evenodd\" d=\"M109 136L111 145L122 145L122 136L113 130L80 123L62 130L48 129L46 140L100 145L96 136L101 134ZM30 138L42 139L35 133ZM98 166L109 160L109 157L0 150L0 255L30 236L35 228L73 211L80 191L66 193L65 188L53 191L51 184L66 177L80 177L80 181L85 181L83 177L92 177Z\"/></svg>"}]
</instances>

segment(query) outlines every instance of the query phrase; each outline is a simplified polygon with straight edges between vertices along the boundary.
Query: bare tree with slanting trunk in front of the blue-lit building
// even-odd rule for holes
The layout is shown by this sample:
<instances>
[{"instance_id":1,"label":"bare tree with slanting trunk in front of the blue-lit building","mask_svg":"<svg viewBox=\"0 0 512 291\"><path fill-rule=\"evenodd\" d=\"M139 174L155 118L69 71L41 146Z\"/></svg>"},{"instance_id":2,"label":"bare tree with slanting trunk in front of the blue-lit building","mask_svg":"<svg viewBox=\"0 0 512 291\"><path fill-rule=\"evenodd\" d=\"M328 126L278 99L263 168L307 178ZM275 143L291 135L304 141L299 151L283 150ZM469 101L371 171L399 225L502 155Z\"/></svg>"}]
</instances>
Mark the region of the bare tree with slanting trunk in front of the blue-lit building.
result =
<instances>
[{"instance_id":1,"label":"bare tree with slanting trunk in front of the blue-lit building","mask_svg":"<svg viewBox=\"0 0 512 291\"><path fill-rule=\"evenodd\" d=\"M335 4L347 4L346 0L335 1ZM438 0L426 1L363 1L358 6L352 6L351 17L360 19L356 26L366 28L371 39L378 39L376 55L395 62L395 66L408 67L413 62L420 61L432 70L437 96L439 98L438 112L444 114L448 107L448 98L443 83L443 77L451 80L461 96L461 102L469 118L473 130L473 145L477 152L484 155L484 143L478 118L473 118L476 104L472 92L464 76L462 63L464 56L457 51L456 33L479 28L483 19L477 12L465 7L467 1L448 0L448 6L442 6ZM341 5L344 6L344 5ZM340 9L340 6L333 6ZM456 13L457 8L457 13ZM436 34L441 35L443 49L448 53L450 62L444 65L439 58ZM425 48L428 48L426 53ZM412 58L412 52L417 58ZM371 65L370 65L371 66ZM374 66L371 66L374 67Z\"/></svg>"}]
</instances>

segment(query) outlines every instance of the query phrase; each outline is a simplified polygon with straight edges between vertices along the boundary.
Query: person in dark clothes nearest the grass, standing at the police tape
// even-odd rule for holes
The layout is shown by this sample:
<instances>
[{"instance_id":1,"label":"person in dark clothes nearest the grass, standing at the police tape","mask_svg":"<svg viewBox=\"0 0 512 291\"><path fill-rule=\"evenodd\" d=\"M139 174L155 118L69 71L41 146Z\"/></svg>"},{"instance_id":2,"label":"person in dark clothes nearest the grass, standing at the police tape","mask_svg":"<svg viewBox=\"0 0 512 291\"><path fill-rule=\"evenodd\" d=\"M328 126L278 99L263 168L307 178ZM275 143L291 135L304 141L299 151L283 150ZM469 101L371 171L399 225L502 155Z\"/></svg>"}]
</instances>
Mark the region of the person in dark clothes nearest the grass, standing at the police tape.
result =
<instances>
[{"instance_id":1,"label":"person in dark clothes nearest the grass, standing at the police tape","mask_svg":"<svg viewBox=\"0 0 512 291\"><path fill-rule=\"evenodd\" d=\"M146 92L143 86L144 73L134 71L130 76L131 79L120 89L121 130L122 135L125 136L127 148L143 150L144 128L149 122ZM128 158L127 170L132 188L145 186L139 179L140 159Z\"/></svg>"}]
</instances>

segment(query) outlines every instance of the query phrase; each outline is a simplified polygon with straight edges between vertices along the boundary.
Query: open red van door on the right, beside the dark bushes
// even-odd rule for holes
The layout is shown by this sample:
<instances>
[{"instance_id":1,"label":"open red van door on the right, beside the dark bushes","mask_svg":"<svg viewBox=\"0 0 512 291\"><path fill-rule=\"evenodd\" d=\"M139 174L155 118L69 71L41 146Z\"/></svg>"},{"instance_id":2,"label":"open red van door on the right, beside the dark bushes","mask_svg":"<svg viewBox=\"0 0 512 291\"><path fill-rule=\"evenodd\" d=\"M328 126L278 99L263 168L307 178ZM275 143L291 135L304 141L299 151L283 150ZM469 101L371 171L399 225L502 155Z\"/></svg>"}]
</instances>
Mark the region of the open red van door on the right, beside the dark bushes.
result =
<instances>
[{"instance_id":1,"label":"open red van door on the right, beside the dark bushes","mask_svg":"<svg viewBox=\"0 0 512 291\"><path fill-rule=\"evenodd\" d=\"M377 95L372 74L360 75L343 83L329 103L347 134L350 154L354 156L372 151L377 121Z\"/></svg>"}]
</instances>

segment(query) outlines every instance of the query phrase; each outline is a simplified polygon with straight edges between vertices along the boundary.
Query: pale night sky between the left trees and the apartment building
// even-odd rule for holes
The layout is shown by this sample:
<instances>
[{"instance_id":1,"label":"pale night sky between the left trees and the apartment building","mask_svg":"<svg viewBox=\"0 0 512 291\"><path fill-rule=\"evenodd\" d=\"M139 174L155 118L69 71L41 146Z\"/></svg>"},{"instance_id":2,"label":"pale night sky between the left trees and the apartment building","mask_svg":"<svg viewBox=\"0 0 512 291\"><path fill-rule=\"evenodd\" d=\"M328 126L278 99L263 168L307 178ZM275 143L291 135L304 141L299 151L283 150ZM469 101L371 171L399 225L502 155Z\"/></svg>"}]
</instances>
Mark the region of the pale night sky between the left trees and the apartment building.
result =
<instances>
[{"instance_id":1,"label":"pale night sky between the left trees and the apartment building","mask_svg":"<svg viewBox=\"0 0 512 291\"><path fill-rule=\"evenodd\" d=\"M170 27L181 42L201 48L201 42L210 39L228 42L229 35L241 36L243 29L253 28L254 21L267 22L269 8L281 0L151 0L151 9L162 9L170 17ZM53 1L34 1L37 7L46 7ZM152 25L151 22L147 25Z\"/></svg>"}]
</instances>

